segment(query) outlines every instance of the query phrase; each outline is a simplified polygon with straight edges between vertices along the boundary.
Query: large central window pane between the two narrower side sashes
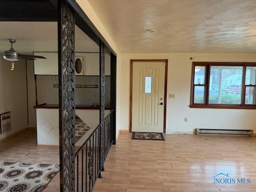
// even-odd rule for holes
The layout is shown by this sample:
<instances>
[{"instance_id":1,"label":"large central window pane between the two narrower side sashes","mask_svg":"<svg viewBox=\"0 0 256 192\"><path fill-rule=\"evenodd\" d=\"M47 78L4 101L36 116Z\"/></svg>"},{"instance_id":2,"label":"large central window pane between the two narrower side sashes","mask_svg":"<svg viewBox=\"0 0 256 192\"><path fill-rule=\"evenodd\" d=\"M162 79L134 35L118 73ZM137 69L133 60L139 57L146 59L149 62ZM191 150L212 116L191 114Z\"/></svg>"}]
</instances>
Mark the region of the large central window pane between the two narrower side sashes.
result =
<instances>
[{"instance_id":1,"label":"large central window pane between the two narrower side sashes","mask_svg":"<svg viewBox=\"0 0 256 192\"><path fill-rule=\"evenodd\" d=\"M242 66L211 66L209 104L241 104Z\"/></svg>"}]
</instances>

